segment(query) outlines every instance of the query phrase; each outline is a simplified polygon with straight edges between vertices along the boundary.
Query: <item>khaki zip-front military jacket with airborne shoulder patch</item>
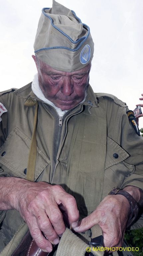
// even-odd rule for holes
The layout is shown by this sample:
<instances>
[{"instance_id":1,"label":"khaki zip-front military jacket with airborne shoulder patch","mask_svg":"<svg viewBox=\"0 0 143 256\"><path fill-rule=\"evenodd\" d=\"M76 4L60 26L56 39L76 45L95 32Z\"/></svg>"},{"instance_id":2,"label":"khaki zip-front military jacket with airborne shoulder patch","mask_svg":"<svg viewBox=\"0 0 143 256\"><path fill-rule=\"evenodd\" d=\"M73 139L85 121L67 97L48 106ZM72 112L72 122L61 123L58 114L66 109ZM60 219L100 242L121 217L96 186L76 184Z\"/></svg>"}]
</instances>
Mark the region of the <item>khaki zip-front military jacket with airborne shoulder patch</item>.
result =
<instances>
[{"instance_id":1,"label":"khaki zip-front military jacket with airborne shoulder patch","mask_svg":"<svg viewBox=\"0 0 143 256\"><path fill-rule=\"evenodd\" d=\"M24 105L27 100L30 106ZM94 95L90 86L85 102L68 111L62 126L56 111L31 91L31 83L1 93L0 102L8 110L0 122L1 176L26 179L35 101L39 105L35 181L60 184L75 197L81 218L113 187L143 189L143 138L130 125L126 104L110 94ZM2 222L4 246L21 217L16 210L1 211ZM140 218L136 228L142 226Z\"/></svg>"}]
</instances>

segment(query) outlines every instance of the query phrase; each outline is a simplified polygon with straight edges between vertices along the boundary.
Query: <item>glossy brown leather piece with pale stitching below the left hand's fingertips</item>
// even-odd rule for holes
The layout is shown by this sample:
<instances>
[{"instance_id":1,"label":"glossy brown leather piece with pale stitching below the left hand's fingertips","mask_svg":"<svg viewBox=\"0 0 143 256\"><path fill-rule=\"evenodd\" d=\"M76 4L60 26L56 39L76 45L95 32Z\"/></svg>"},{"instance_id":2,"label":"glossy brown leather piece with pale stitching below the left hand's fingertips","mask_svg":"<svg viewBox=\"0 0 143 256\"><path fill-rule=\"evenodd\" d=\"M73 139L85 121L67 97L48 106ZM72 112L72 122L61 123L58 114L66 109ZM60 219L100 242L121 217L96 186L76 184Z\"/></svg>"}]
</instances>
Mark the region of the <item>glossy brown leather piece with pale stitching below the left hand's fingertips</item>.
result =
<instances>
[{"instance_id":1,"label":"glossy brown leather piece with pale stitching below the left hand's fingertips","mask_svg":"<svg viewBox=\"0 0 143 256\"><path fill-rule=\"evenodd\" d=\"M34 240L30 243L30 246L27 250L26 256L48 256L50 253L43 252L35 243Z\"/></svg>"}]
</instances>

